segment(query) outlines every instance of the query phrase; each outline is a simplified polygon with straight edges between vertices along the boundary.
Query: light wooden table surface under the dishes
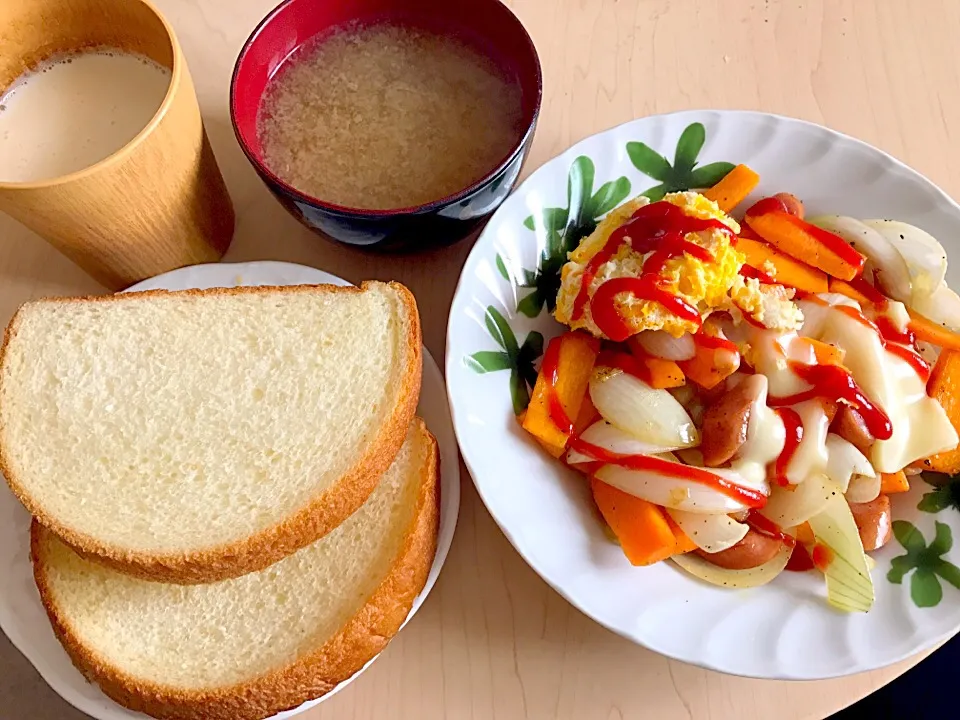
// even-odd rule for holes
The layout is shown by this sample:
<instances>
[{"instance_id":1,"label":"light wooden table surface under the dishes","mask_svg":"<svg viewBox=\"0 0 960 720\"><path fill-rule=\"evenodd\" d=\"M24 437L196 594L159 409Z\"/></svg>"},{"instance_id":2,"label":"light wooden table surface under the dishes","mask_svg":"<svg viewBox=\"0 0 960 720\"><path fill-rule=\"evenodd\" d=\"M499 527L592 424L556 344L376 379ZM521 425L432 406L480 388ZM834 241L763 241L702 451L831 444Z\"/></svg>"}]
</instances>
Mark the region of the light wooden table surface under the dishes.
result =
<instances>
[{"instance_id":1,"label":"light wooden table surface under the dishes","mask_svg":"<svg viewBox=\"0 0 960 720\"><path fill-rule=\"evenodd\" d=\"M230 127L240 45L274 0L156 0L183 44L237 208L227 260L304 263L351 281L397 279L416 294L424 340L442 361L447 312L470 241L391 258L336 247L261 186ZM689 108L793 115L855 135L960 196L956 0L515 0L536 42L544 101L525 172L586 135ZM956 121L955 121L956 122ZM0 215L0 321L46 294L102 292ZM442 364L442 362L441 362ZM527 567L479 501L463 504L440 581L417 617L357 682L302 717L819 719L919 658L823 682L708 672L636 647L571 607ZM0 715L85 717L0 636ZM16 708L14 710L13 708Z\"/></svg>"}]
</instances>

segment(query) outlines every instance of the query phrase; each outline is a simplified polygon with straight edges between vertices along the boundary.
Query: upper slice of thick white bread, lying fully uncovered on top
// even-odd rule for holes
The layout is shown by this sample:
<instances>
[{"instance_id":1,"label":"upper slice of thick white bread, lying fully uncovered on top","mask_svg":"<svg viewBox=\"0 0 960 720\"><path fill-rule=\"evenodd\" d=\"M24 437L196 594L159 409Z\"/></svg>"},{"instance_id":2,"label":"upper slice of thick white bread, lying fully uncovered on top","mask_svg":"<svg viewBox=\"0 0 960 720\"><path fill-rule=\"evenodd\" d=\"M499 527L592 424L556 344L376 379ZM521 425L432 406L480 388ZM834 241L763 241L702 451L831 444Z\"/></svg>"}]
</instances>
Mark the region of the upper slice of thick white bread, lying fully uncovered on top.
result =
<instances>
[{"instance_id":1,"label":"upper slice of thick white bread, lying fully uncovered on top","mask_svg":"<svg viewBox=\"0 0 960 720\"><path fill-rule=\"evenodd\" d=\"M416 304L393 283L28 303L0 357L0 470L80 553L236 577L366 500L420 372Z\"/></svg>"}]
</instances>

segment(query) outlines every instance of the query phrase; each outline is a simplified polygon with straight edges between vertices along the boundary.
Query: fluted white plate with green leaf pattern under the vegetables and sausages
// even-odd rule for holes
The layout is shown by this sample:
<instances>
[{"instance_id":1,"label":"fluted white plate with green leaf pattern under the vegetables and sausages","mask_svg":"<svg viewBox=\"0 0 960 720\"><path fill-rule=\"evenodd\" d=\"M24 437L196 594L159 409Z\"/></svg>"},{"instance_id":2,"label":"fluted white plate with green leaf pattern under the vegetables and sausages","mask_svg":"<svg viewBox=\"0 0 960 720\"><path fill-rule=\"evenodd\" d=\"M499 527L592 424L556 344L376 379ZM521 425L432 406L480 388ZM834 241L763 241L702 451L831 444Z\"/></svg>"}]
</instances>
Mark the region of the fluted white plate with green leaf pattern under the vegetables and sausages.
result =
<instances>
[{"instance_id":1,"label":"fluted white plate with green leaf pattern under the vegetables and sausages","mask_svg":"<svg viewBox=\"0 0 960 720\"><path fill-rule=\"evenodd\" d=\"M665 156L641 159L649 172L631 160L628 145L638 142ZM670 167L678 164L678 145L681 167ZM696 159L696 168L683 166L684 157ZM920 511L933 488L915 481L911 492L894 499L894 515L911 523L920 533L914 538L924 543L933 542L941 523L937 550L944 553L924 555L919 572L911 565L895 584L887 578L890 561L906 550L892 540L875 553L876 605L868 614L844 615L826 604L823 578L813 572L729 591L671 563L632 567L601 530L582 476L542 452L514 419L511 395L523 405L529 387L523 377L531 377L541 352L537 333L549 339L561 330L541 306L555 295L550 265L563 262L567 219L588 225L625 197L656 188L657 175L674 178L671 189L709 186L721 171L711 167L717 162L746 163L759 172L753 198L789 191L811 215L919 225L946 246L953 259L948 280L960 288L960 207L883 152L811 123L756 112L635 120L583 140L534 172L493 215L467 259L450 312L446 358L461 452L487 508L524 559L572 604L623 637L679 660L761 678L828 678L888 665L960 628L960 590L936 577L933 567L934 560L960 565L960 547L946 538L960 534L960 514ZM576 212L567 212L570 204ZM942 498L929 498L926 506L943 504ZM906 538L910 526L898 527Z\"/></svg>"}]
</instances>

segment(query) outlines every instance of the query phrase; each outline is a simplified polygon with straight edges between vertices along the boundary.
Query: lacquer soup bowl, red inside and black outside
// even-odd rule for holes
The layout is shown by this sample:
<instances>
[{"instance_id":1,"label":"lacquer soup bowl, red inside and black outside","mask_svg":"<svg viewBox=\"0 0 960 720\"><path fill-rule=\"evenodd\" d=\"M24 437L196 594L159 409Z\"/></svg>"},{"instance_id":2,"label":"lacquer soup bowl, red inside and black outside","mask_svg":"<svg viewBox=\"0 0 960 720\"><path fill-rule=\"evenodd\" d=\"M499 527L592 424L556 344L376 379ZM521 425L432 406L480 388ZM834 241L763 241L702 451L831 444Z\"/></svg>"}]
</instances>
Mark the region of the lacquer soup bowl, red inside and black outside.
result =
<instances>
[{"instance_id":1,"label":"lacquer soup bowl, red inside and black outside","mask_svg":"<svg viewBox=\"0 0 960 720\"><path fill-rule=\"evenodd\" d=\"M389 21L453 36L492 60L521 96L521 132L489 171L469 187L422 205L389 210L344 207L312 197L267 167L257 115L271 78L304 43L350 24ZM533 141L542 96L536 49L499 0L286 0L243 45L230 85L234 132L261 179L297 219L343 243L379 250L417 250L463 238L513 189Z\"/></svg>"}]
</instances>

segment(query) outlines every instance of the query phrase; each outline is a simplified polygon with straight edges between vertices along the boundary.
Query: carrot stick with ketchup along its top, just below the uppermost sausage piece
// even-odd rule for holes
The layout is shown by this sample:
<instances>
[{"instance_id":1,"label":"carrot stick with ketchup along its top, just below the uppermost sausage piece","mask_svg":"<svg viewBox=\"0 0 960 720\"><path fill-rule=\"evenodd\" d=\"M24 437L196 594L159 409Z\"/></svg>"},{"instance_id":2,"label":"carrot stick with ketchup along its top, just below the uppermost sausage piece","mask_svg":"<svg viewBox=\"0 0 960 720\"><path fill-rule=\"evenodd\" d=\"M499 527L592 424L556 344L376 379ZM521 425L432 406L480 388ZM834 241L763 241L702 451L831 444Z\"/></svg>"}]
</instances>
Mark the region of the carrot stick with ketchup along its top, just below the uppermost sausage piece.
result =
<instances>
[{"instance_id":1,"label":"carrot stick with ketchup along its top, just below the uppermost sausage piece","mask_svg":"<svg viewBox=\"0 0 960 720\"><path fill-rule=\"evenodd\" d=\"M863 271L866 262L863 255L843 238L791 215L780 198L761 200L747 210L745 220L777 250L828 275L852 280Z\"/></svg>"}]
</instances>

